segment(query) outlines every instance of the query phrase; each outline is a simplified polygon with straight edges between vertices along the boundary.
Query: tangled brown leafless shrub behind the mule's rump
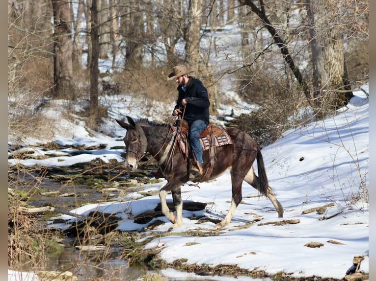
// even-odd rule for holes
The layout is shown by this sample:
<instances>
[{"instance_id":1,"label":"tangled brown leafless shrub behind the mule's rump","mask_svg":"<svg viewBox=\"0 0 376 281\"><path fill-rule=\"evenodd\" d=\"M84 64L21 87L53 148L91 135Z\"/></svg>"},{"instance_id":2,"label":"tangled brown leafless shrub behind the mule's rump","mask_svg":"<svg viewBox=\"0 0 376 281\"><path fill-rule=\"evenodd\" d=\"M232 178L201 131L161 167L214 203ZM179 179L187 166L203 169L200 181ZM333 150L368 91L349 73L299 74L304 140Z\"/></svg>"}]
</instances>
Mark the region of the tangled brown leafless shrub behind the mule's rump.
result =
<instances>
[{"instance_id":1,"label":"tangled brown leafless shrub behind the mule's rump","mask_svg":"<svg viewBox=\"0 0 376 281\"><path fill-rule=\"evenodd\" d=\"M309 118L307 115L298 115L298 110L303 108L305 100L295 88L296 85L288 88L287 80L281 80L278 84L271 81L273 80L267 75L252 84L246 84L243 80L240 94L249 103L258 104L260 108L235 117L226 124L246 131L260 146L274 142L286 129L304 123Z\"/></svg>"}]
</instances>

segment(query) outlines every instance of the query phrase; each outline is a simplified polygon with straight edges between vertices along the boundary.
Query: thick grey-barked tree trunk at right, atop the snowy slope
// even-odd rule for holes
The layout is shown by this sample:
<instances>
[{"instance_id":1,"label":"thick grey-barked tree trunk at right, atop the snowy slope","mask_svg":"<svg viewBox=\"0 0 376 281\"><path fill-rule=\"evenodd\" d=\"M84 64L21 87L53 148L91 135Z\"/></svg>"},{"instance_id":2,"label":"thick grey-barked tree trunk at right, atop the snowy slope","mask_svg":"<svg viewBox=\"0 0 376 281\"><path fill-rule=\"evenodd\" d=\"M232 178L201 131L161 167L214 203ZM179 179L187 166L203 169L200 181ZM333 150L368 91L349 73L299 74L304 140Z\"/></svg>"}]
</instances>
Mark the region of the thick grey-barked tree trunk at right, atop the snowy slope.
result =
<instances>
[{"instance_id":1,"label":"thick grey-barked tree trunk at right, atop the snowy slope","mask_svg":"<svg viewBox=\"0 0 376 281\"><path fill-rule=\"evenodd\" d=\"M320 109L336 109L345 105L349 95L345 85L343 42L338 25L339 13L332 0L306 0L314 99Z\"/></svg>"}]
</instances>

